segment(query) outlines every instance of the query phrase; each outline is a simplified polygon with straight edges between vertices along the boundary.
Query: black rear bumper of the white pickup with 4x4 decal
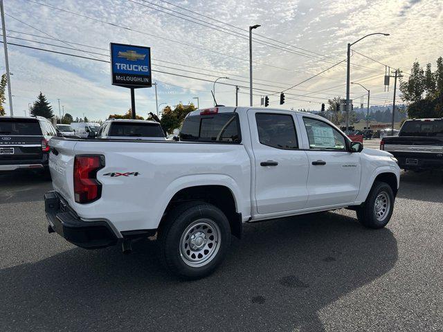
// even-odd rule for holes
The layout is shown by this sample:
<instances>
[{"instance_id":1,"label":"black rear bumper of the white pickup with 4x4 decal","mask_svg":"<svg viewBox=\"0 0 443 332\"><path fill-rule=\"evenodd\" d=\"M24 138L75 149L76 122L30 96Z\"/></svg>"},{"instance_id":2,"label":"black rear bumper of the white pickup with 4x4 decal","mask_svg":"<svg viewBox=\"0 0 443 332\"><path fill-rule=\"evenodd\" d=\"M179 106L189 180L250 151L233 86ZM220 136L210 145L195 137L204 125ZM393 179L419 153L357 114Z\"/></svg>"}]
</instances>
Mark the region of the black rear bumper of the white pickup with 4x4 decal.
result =
<instances>
[{"instance_id":1,"label":"black rear bumper of the white pickup with 4x4 decal","mask_svg":"<svg viewBox=\"0 0 443 332\"><path fill-rule=\"evenodd\" d=\"M83 221L56 192L44 194L44 205L48 231L57 232L75 246L97 249L114 246L119 241L107 221Z\"/></svg>"}]
</instances>

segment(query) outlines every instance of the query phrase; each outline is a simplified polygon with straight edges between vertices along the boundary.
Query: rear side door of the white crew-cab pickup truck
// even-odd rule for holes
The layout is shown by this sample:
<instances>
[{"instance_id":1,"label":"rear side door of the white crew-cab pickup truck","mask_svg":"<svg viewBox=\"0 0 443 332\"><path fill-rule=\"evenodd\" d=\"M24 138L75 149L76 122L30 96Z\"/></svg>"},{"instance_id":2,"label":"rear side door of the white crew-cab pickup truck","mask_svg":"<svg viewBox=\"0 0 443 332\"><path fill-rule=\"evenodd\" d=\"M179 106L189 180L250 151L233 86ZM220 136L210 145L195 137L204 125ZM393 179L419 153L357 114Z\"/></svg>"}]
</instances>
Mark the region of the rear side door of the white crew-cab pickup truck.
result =
<instances>
[{"instance_id":1,"label":"rear side door of the white crew-cab pickup truck","mask_svg":"<svg viewBox=\"0 0 443 332\"><path fill-rule=\"evenodd\" d=\"M298 123L292 112L248 110L255 163L258 214L299 210L307 204L308 160L299 149Z\"/></svg>"}]
</instances>

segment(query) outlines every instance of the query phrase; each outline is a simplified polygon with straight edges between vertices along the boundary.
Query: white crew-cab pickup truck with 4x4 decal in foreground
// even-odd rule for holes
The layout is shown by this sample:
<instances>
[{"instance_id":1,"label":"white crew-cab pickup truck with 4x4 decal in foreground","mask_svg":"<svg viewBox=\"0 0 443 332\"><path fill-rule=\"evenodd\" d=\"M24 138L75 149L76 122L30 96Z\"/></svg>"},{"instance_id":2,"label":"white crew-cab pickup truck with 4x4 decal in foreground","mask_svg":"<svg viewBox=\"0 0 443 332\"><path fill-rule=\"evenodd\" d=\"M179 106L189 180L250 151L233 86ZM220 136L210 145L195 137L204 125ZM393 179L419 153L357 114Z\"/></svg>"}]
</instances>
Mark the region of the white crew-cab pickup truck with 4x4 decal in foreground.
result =
<instances>
[{"instance_id":1,"label":"white crew-cab pickup truck with 4x4 decal in foreground","mask_svg":"<svg viewBox=\"0 0 443 332\"><path fill-rule=\"evenodd\" d=\"M188 279L219 266L242 223L350 208L382 228L399 187L388 152L363 149L325 118L279 109L193 111L178 142L55 137L50 146L49 232L124 251L156 239L161 261Z\"/></svg>"}]
</instances>

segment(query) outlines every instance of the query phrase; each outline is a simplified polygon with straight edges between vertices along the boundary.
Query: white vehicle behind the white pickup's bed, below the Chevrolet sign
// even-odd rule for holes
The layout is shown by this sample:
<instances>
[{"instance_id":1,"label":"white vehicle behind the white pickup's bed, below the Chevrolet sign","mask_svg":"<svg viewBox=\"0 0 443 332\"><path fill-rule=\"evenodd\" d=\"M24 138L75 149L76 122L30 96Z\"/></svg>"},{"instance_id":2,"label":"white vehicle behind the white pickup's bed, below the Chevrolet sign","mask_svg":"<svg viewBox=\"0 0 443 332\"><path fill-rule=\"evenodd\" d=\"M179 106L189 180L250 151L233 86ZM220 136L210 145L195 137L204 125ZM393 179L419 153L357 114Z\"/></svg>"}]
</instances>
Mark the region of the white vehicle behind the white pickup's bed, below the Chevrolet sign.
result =
<instances>
[{"instance_id":1,"label":"white vehicle behind the white pickup's bed, below the Chevrolet sign","mask_svg":"<svg viewBox=\"0 0 443 332\"><path fill-rule=\"evenodd\" d=\"M166 140L159 122L109 119L102 123L97 138L123 140Z\"/></svg>"}]
</instances>

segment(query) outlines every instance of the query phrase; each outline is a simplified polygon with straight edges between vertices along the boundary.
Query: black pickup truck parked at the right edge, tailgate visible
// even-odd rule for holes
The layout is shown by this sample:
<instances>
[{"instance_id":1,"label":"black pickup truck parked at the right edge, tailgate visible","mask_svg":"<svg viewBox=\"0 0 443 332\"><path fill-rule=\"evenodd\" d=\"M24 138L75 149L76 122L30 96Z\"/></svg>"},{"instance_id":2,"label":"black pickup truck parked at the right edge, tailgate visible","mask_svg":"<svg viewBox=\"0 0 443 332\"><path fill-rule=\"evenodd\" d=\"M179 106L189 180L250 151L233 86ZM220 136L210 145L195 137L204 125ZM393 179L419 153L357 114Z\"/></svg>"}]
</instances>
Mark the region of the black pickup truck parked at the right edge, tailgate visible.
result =
<instances>
[{"instance_id":1,"label":"black pickup truck parked at the right edge, tailgate visible","mask_svg":"<svg viewBox=\"0 0 443 332\"><path fill-rule=\"evenodd\" d=\"M380 149L393 154L402 169L443 169L443 119L406 120L398 136L381 140Z\"/></svg>"}]
</instances>

